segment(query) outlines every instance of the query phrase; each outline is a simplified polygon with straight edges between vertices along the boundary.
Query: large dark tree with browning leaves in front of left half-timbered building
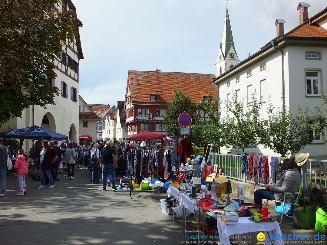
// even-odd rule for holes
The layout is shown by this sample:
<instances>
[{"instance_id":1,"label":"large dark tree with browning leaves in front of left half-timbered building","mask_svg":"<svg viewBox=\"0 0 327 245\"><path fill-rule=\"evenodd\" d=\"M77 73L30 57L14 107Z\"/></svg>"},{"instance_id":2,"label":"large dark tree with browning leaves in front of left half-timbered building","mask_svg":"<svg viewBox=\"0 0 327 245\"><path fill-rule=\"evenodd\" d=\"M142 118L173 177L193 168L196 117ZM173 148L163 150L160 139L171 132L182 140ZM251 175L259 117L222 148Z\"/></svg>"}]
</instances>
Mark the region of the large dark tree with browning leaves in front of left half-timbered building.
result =
<instances>
[{"instance_id":1,"label":"large dark tree with browning leaves in front of left half-timbered building","mask_svg":"<svg viewBox=\"0 0 327 245\"><path fill-rule=\"evenodd\" d=\"M72 10L60 13L58 0L0 2L0 123L21 117L30 105L54 105L59 89L53 60L82 23ZM45 74L45 75L44 75Z\"/></svg>"}]
</instances>

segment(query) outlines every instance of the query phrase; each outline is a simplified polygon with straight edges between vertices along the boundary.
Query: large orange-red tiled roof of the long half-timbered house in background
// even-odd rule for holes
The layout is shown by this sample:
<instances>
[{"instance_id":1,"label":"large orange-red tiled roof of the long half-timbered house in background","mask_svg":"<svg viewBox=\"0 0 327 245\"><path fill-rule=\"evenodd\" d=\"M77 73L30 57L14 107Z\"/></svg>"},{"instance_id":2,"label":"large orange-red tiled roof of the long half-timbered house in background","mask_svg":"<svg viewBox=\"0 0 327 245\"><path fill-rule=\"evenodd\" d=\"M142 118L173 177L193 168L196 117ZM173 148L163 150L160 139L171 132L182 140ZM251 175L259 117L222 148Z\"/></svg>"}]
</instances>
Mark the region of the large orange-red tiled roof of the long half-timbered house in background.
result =
<instances>
[{"instance_id":1,"label":"large orange-red tiled roof of the long half-timbered house in background","mask_svg":"<svg viewBox=\"0 0 327 245\"><path fill-rule=\"evenodd\" d=\"M181 72L129 71L129 86L132 103L150 101L149 92L157 92L154 103L167 103L174 97L174 91L180 89L193 101L203 99L202 95L218 98L217 86L211 83L212 74Z\"/></svg>"}]
</instances>

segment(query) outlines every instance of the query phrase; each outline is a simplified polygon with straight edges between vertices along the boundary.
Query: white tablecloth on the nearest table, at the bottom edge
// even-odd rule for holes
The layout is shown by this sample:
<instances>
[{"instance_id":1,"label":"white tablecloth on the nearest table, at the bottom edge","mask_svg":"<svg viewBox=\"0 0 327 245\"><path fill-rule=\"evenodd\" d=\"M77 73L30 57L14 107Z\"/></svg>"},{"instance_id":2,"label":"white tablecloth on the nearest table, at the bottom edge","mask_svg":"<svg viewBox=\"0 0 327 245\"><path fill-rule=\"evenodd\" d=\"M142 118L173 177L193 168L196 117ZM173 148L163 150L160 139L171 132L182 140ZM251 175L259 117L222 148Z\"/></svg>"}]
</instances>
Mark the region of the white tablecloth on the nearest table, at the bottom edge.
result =
<instances>
[{"instance_id":1,"label":"white tablecloth on the nearest table, at the bottom edge","mask_svg":"<svg viewBox=\"0 0 327 245\"><path fill-rule=\"evenodd\" d=\"M220 219L217 219L217 227L220 239L220 245L230 245L229 236L237 235L237 234L244 234L249 232L264 232L266 239L265 244L270 244L270 240L268 237L267 232L265 231L272 231L274 237L279 234L282 236L281 228L277 221L275 222L267 222L267 223L255 223L249 221L249 217L240 217L236 224L225 224ZM272 233L269 233L272 234ZM278 240L278 244L284 244L282 239Z\"/></svg>"}]
</instances>

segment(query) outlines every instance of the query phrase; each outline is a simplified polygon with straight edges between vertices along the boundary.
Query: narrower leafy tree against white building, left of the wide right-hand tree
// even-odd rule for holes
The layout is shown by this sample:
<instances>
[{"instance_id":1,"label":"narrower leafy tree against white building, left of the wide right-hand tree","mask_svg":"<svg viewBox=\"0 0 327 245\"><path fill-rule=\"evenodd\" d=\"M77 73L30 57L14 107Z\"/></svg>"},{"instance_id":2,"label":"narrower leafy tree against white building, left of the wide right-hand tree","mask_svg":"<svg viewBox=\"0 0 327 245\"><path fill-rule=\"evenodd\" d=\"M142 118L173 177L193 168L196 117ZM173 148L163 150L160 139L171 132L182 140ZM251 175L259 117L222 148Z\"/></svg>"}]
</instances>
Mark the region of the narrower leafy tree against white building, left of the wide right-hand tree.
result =
<instances>
[{"instance_id":1,"label":"narrower leafy tree against white building, left of the wide right-hand tree","mask_svg":"<svg viewBox=\"0 0 327 245\"><path fill-rule=\"evenodd\" d=\"M236 149L254 148L258 143L258 136L263 127L263 120L259 113L261 100L257 101L254 90L252 102L245 109L242 100L238 101L236 92L233 93L232 101L226 105L227 112L224 123L226 147L232 146Z\"/></svg>"}]
</instances>

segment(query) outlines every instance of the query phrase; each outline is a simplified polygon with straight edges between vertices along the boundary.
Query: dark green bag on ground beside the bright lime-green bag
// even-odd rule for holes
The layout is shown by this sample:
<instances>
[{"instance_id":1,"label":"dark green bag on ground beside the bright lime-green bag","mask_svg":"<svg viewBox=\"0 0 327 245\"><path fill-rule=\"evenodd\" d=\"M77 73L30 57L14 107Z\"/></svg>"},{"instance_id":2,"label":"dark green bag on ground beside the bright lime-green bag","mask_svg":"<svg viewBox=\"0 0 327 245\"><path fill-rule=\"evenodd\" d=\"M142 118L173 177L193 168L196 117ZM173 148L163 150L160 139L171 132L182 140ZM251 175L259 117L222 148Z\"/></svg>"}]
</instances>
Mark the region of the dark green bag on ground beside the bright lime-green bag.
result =
<instances>
[{"instance_id":1,"label":"dark green bag on ground beside the bright lime-green bag","mask_svg":"<svg viewBox=\"0 0 327 245\"><path fill-rule=\"evenodd\" d=\"M309 195L308 195L309 196ZM316 209L313 205L304 204L293 208L293 227L303 230L312 229L316 223Z\"/></svg>"}]
</instances>

